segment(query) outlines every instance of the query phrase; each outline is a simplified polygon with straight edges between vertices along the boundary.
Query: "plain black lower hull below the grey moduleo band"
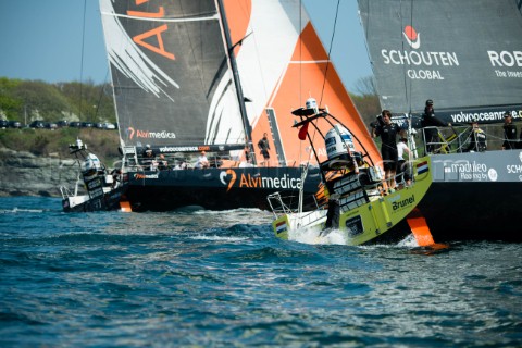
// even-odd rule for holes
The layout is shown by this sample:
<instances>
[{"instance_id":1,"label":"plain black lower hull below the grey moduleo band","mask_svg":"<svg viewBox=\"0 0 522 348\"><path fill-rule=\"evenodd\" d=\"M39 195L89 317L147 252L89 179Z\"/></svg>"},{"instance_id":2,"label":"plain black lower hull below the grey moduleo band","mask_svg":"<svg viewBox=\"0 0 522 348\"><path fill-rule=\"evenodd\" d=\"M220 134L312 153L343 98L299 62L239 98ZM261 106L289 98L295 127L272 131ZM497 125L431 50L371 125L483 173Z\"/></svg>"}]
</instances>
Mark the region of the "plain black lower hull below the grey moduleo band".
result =
<instances>
[{"instance_id":1,"label":"plain black lower hull below the grey moduleo band","mask_svg":"<svg viewBox=\"0 0 522 348\"><path fill-rule=\"evenodd\" d=\"M522 241L521 183L433 183L419 209L435 241Z\"/></svg>"}]
</instances>

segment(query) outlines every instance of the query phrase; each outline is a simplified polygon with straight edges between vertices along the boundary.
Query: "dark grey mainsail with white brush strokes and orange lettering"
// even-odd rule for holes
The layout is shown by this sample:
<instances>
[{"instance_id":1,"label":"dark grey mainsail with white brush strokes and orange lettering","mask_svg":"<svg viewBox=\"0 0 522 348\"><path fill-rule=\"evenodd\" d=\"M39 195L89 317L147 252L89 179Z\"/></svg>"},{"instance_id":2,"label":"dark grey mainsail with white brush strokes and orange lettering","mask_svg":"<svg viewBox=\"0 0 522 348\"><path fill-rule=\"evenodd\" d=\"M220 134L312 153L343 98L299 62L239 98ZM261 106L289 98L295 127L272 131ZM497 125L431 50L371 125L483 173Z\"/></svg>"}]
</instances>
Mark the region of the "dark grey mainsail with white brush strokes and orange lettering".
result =
<instances>
[{"instance_id":1,"label":"dark grey mainsail with white brush strokes and orange lettering","mask_svg":"<svg viewBox=\"0 0 522 348\"><path fill-rule=\"evenodd\" d=\"M245 142L214 0L100 0L100 9L124 145Z\"/></svg>"}]
</instances>

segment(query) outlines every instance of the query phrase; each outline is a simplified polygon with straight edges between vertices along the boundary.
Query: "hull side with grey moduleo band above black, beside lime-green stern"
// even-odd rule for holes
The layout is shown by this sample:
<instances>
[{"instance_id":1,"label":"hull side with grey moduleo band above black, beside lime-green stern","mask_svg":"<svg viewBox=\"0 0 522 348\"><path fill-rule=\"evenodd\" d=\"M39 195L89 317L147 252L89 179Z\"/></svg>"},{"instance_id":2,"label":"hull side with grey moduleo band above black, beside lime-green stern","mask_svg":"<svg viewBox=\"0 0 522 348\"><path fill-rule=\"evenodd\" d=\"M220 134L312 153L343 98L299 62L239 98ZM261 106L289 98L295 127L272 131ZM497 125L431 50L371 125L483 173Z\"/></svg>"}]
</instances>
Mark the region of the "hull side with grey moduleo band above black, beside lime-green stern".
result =
<instances>
[{"instance_id":1,"label":"hull side with grey moduleo band above black, beside lime-green stern","mask_svg":"<svg viewBox=\"0 0 522 348\"><path fill-rule=\"evenodd\" d=\"M434 181L419 204L435 241L522 241L522 152L432 156Z\"/></svg>"}]
</instances>

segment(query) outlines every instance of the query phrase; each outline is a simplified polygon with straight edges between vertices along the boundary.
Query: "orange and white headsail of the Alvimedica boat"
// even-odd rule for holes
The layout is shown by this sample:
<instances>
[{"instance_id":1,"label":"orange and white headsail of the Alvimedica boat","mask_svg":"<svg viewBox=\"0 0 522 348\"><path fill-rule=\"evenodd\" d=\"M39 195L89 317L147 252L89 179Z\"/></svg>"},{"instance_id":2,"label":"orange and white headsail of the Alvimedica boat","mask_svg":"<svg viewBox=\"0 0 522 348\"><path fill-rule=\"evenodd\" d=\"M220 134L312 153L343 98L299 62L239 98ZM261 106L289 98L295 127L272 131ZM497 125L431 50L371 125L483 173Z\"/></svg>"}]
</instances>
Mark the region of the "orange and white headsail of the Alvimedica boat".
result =
<instances>
[{"instance_id":1,"label":"orange and white headsail of the Alvimedica boat","mask_svg":"<svg viewBox=\"0 0 522 348\"><path fill-rule=\"evenodd\" d=\"M309 158L307 142L290 111L314 97L343 120L373 159L378 151L299 0L227 0L226 13L236 49L247 112L256 142L272 135L271 158L299 165ZM323 129L326 133L328 129ZM318 136L318 139L321 137ZM322 138L321 138L322 141ZM324 144L315 144L322 160Z\"/></svg>"}]
</instances>

